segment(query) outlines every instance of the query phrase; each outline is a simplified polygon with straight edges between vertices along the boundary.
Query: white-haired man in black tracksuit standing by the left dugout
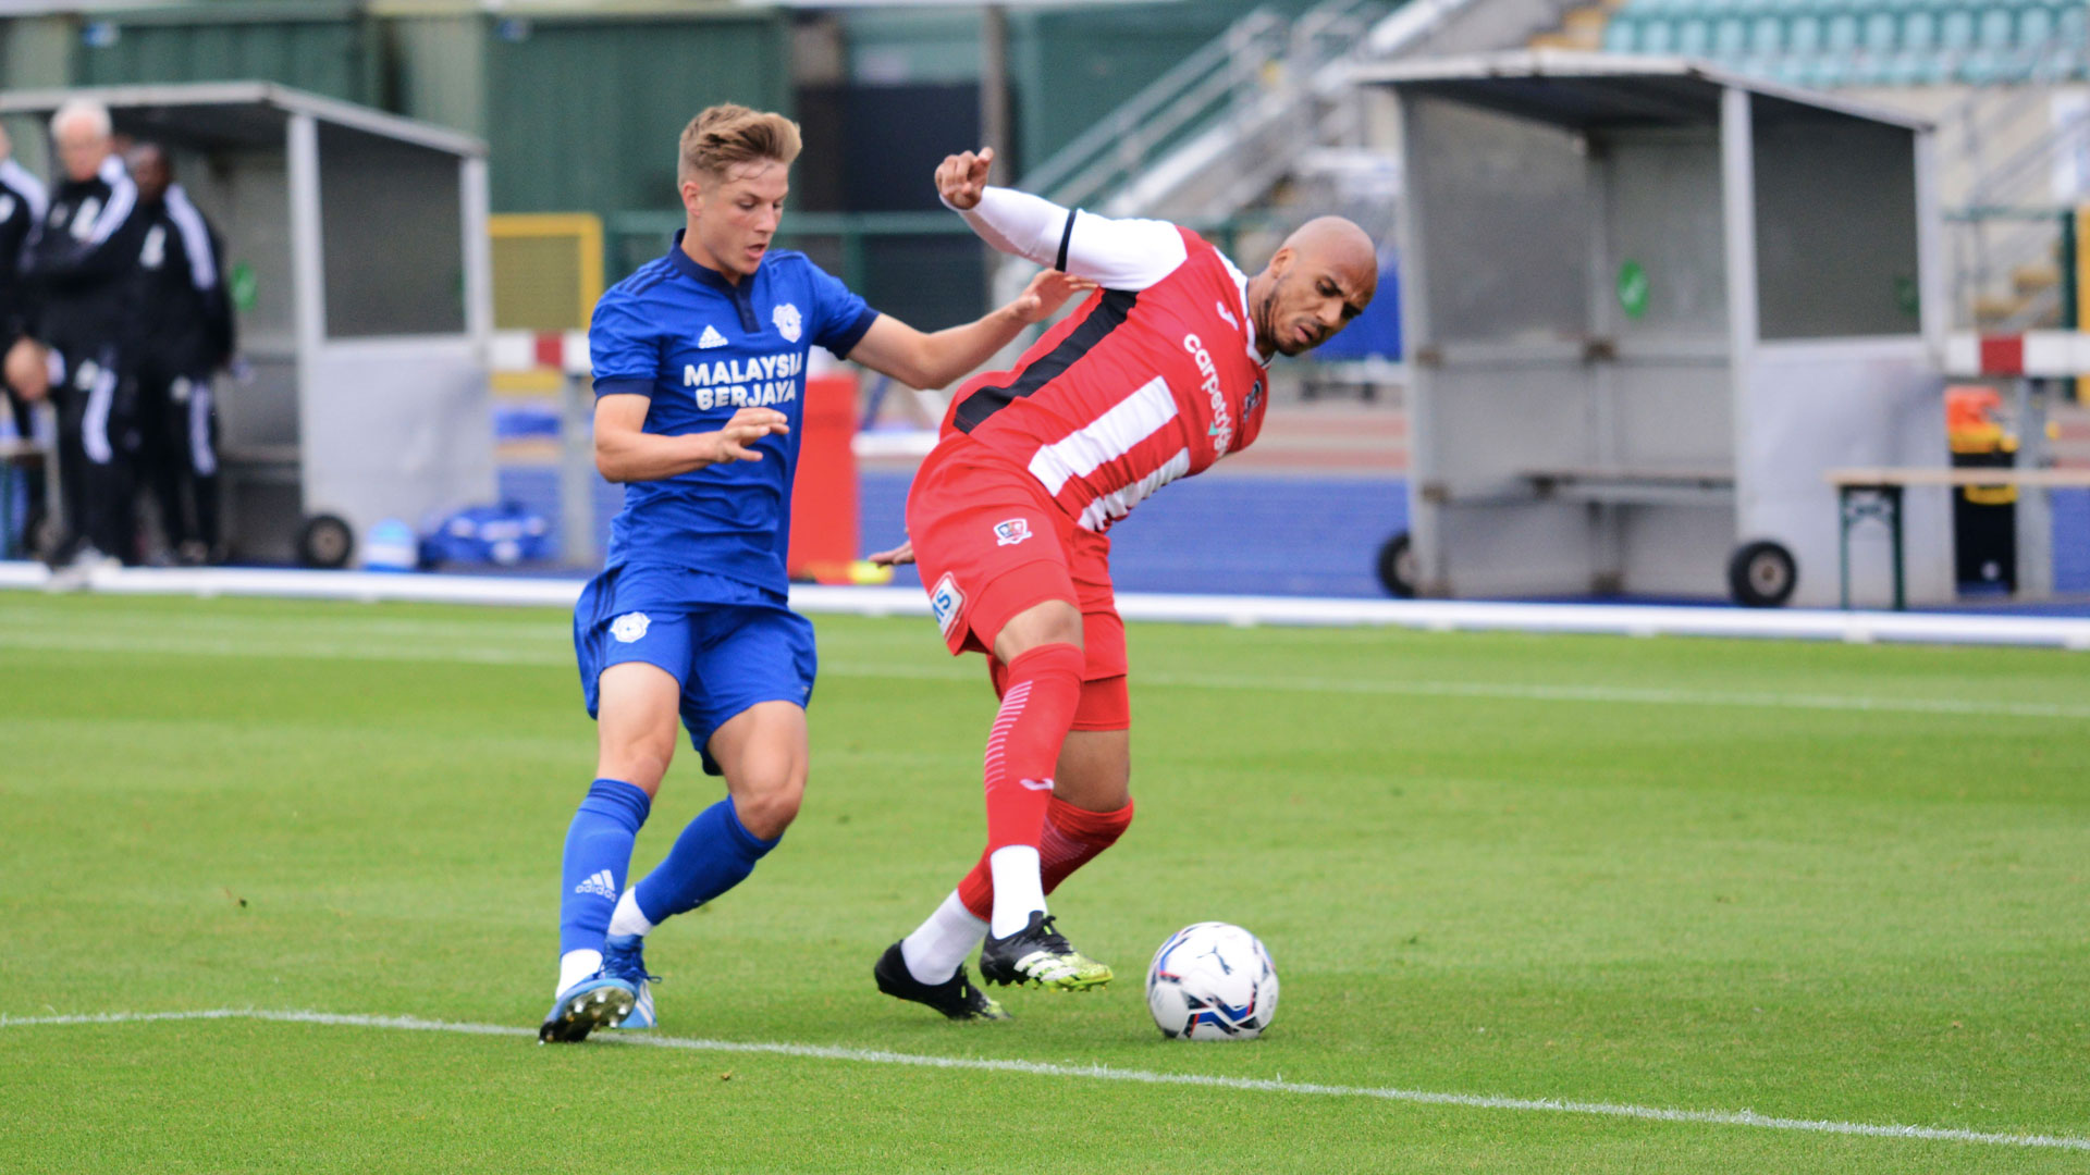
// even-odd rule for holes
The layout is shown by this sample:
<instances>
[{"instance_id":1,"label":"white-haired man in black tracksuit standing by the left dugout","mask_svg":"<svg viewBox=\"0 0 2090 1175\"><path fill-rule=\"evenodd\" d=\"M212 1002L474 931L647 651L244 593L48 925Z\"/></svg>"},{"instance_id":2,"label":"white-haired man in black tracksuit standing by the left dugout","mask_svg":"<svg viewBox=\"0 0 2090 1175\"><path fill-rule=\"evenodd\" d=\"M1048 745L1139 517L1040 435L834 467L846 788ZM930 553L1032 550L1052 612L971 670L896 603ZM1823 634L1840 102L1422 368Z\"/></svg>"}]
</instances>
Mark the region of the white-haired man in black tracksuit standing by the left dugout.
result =
<instances>
[{"instance_id":1,"label":"white-haired man in black tracksuit standing by the left dugout","mask_svg":"<svg viewBox=\"0 0 2090 1175\"><path fill-rule=\"evenodd\" d=\"M138 452L132 349L138 320L138 188L111 148L109 111L73 100L50 117L61 176L29 232L29 332L56 351L59 489L67 537L56 558L84 567L138 556L132 460Z\"/></svg>"}]
</instances>

